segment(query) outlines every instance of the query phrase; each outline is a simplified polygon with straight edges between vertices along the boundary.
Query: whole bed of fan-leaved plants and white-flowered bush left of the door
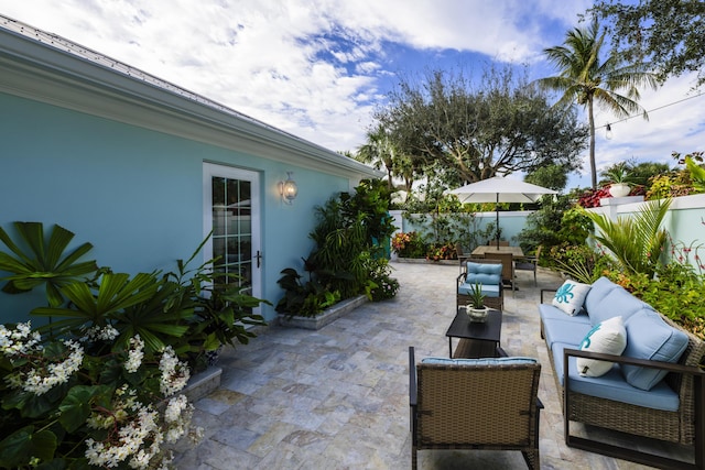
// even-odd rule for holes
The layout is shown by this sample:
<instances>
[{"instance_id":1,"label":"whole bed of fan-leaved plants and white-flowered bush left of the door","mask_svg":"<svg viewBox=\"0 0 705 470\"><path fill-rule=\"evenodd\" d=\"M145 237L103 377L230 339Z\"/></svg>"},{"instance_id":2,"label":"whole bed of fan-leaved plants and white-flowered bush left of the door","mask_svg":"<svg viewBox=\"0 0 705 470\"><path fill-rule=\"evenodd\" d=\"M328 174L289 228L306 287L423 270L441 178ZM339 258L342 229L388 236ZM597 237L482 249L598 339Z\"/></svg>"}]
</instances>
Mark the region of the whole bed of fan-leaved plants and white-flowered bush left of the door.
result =
<instances>
[{"instance_id":1,"label":"whole bed of fan-leaved plants and white-flowered bush left of the door","mask_svg":"<svg viewBox=\"0 0 705 470\"><path fill-rule=\"evenodd\" d=\"M263 325L260 299L210 270L177 261L175 273L130 276L65 254L74 233L15 222L0 229L2 291L45 287L51 316L0 325L0 468L166 468L189 429L193 406L177 393L206 353L247 343ZM230 280L231 281L231 280Z\"/></svg>"}]
</instances>

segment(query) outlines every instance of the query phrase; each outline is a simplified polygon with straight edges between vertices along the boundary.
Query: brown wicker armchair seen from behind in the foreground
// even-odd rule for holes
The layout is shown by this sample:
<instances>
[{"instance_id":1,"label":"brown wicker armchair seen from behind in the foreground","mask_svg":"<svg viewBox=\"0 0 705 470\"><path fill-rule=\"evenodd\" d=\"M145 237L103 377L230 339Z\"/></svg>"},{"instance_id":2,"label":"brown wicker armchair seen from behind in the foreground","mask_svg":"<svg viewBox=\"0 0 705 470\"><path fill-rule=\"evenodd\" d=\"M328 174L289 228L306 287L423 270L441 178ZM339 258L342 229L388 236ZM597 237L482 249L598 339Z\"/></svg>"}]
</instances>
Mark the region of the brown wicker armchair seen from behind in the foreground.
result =
<instances>
[{"instance_id":1,"label":"brown wicker armchair seen from behind in the foreground","mask_svg":"<svg viewBox=\"0 0 705 470\"><path fill-rule=\"evenodd\" d=\"M520 450L539 469L541 364L416 364L409 348L411 467L423 449Z\"/></svg>"}]
</instances>

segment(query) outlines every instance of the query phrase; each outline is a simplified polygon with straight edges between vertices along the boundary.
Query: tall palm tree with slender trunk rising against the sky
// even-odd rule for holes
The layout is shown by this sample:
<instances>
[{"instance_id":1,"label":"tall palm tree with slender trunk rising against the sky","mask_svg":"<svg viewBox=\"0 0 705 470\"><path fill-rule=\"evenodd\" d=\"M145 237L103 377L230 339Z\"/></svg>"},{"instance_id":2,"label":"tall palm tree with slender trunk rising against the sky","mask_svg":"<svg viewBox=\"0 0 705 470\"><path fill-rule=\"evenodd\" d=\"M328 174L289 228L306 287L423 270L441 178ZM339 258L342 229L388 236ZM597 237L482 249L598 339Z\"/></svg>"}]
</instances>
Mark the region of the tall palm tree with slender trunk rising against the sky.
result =
<instances>
[{"instance_id":1,"label":"tall palm tree with slender trunk rising against the sky","mask_svg":"<svg viewBox=\"0 0 705 470\"><path fill-rule=\"evenodd\" d=\"M646 64L622 65L619 54L611 52L600 62L600 52L605 42L605 32L599 34L597 20L586 29L568 31L562 46L544 50L549 62L558 68L558 76L540 78L535 83L543 89L563 92L555 106L570 106L577 101L587 107L590 129L590 172L593 188L597 187L595 167L595 102L606 107L619 118L641 112L649 119L647 111L637 102L638 87L658 86L657 75L647 69ZM626 90L626 95L617 91Z\"/></svg>"}]
</instances>

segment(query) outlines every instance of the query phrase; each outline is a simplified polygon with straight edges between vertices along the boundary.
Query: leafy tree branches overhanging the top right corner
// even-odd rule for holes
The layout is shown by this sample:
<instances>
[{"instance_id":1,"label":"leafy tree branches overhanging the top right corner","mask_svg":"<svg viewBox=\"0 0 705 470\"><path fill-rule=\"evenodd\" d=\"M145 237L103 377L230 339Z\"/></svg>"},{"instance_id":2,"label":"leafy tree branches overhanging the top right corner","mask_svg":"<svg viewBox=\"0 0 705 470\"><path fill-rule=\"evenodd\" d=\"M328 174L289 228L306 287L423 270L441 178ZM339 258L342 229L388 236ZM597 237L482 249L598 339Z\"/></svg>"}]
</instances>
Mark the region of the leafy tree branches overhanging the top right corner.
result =
<instances>
[{"instance_id":1,"label":"leafy tree branches overhanging the top right corner","mask_svg":"<svg viewBox=\"0 0 705 470\"><path fill-rule=\"evenodd\" d=\"M590 10L609 20L612 45L627 61L649 61L663 81L668 76L697 72L705 84L705 2L640 0L626 4L600 0Z\"/></svg>"}]
</instances>

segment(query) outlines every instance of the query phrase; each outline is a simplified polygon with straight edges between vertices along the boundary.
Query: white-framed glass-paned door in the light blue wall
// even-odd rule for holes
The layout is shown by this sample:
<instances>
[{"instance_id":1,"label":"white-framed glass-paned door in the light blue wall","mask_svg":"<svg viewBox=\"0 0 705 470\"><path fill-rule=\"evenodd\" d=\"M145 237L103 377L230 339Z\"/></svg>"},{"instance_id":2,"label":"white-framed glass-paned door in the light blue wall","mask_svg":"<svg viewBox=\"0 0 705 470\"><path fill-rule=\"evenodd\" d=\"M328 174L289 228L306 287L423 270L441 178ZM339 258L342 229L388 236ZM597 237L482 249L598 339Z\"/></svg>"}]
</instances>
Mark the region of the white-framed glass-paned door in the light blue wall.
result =
<instances>
[{"instance_id":1,"label":"white-framed glass-paned door in the light blue wall","mask_svg":"<svg viewBox=\"0 0 705 470\"><path fill-rule=\"evenodd\" d=\"M261 297L260 175L213 163L203 174L203 229L213 231L205 261L217 258L217 271L237 274L245 293Z\"/></svg>"}]
</instances>

